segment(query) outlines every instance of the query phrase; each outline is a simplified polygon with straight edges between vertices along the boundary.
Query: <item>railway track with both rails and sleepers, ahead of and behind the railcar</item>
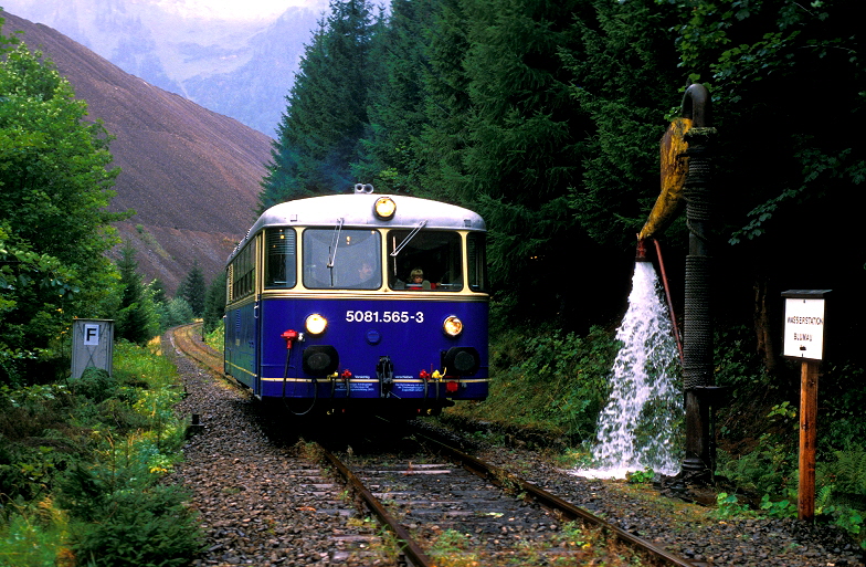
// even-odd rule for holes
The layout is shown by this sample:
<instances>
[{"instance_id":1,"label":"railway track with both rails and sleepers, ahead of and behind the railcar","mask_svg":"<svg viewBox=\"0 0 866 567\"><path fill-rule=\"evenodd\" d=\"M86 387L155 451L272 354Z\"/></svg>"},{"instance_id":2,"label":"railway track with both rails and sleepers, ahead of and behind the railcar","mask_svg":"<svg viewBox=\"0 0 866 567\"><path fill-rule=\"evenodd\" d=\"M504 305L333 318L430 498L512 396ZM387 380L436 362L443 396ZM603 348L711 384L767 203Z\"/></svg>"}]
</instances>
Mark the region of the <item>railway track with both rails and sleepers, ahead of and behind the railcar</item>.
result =
<instances>
[{"instance_id":1,"label":"railway track with both rails and sleepers, ahead of and behind the railcar","mask_svg":"<svg viewBox=\"0 0 866 567\"><path fill-rule=\"evenodd\" d=\"M176 328L176 349L222 375L222 358L201 342L198 329L194 324ZM377 424L371 426L373 422ZM414 567L443 561L514 565L515 560L521 565L599 560L605 565L633 565L625 563L632 560L640 560L640 565L700 565L454 449L431 437L427 429L408 431L404 424L370 420L365 428L341 431L323 441L330 447L339 440L341 452L317 445L310 454L319 455L327 468L339 473L357 500L388 526L400 553ZM351 449L352 443L367 449L359 453ZM317 484L326 483L311 481L310 490ZM620 559L602 558L604 554L629 558L616 563Z\"/></svg>"}]
</instances>

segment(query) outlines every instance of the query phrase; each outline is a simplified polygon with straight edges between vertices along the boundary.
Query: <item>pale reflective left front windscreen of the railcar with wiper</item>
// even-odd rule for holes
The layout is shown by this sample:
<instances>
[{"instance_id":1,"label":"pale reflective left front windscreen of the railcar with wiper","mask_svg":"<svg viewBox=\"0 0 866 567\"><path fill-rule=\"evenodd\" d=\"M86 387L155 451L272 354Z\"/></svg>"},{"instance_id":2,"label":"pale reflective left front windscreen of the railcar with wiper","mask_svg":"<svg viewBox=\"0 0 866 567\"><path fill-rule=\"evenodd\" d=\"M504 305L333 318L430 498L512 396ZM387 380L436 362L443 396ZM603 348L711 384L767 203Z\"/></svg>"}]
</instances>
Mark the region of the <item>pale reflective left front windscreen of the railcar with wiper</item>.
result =
<instances>
[{"instance_id":1,"label":"pale reflective left front windscreen of the railcar with wiper","mask_svg":"<svg viewBox=\"0 0 866 567\"><path fill-rule=\"evenodd\" d=\"M304 285L311 290L382 286L381 234L368 229L304 231Z\"/></svg>"}]
</instances>

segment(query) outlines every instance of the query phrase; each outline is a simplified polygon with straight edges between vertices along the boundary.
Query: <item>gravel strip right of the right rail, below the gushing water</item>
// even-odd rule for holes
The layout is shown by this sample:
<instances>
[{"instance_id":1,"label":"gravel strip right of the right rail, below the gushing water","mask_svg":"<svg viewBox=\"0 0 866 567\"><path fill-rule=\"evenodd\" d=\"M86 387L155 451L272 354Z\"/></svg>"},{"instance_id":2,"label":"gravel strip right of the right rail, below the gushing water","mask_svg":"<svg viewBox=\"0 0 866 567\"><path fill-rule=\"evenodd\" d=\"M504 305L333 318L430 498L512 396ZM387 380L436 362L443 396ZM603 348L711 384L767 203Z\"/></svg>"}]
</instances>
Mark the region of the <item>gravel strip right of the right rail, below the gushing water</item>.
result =
<instances>
[{"instance_id":1,"label":"gravel strip right of the right rail, below the gushing water","mask_svg":"<svg viewBox=\"0 0 866 567\"><path fill-rule=\"evenodd\" d=\"M864 555L842 529L792 518L727 518L710 508L658 497L650 487L596 481L558 470L534 451L480 451L478 456L581 506L696 565L863 567Z\"/></svg>"}]
</instances>

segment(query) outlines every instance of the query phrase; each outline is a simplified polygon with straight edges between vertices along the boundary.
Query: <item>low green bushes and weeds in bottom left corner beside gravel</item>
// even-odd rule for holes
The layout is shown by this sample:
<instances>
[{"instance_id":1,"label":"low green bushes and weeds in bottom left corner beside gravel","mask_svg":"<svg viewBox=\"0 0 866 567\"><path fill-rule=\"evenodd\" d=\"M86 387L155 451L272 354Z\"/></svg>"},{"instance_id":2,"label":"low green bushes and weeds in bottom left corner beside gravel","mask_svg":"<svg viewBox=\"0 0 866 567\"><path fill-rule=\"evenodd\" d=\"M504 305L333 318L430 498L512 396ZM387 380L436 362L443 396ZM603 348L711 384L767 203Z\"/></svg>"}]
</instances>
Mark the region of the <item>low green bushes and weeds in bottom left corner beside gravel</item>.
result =
<instances>
[{"instance_id":1,"label":"low green bushes and weeds in bottom left corner beside gravel","mask_svg":"<svg viewBox=\"0 0 866 567\"><path fill-rule=\"evenodd\" d=\"M184 441L177 372L126 342L114 370L88 369L68 388L0 388L0 498L15 502L0 507L4 552L38 545L51 565L179 566L199 550L186 496L159 483ZM11 557L0 565L44 564Z\"/></svg>"}]
</instances>

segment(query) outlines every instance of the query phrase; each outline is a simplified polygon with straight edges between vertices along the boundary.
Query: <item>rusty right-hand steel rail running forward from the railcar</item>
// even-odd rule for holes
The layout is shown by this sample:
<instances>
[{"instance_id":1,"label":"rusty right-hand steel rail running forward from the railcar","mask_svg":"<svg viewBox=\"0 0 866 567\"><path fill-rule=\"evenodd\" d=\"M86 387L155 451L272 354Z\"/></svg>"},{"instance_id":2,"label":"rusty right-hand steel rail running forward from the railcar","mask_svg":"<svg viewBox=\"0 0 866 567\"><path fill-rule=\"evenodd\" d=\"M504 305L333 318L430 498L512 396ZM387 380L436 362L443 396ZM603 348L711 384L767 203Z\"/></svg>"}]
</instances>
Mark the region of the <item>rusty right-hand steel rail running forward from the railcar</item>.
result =
<instances>
[{"instance_id":1,"label":"rusty right-hand steel rail running forward from the railcar","mask_svg":"<svg viewBox=\"0 0 866 567\"><path fill-rule=\"evenodd\" d=\"M464 453L453 447L448 447L442 441L433 439L425 433L416 432L415 435L424 438L424 440L429 441L430 443L435 445L435 450L440 452L443 456L452 459L466 470L477 474L478 476L493 482L499 486L504 486L508 483L514 483L519 486L527 495L531 496L536 502L540 505L545 506L548 510L553 511L557 514L560 514L566 519L582 519L595 526L599 526L603 529L606 529L613 533L617 538L627 543L629 545L636 547L650 555L655 557L659 557L664 559L668 565L674 565L677 567L697 567L695 564L673 555L661 547L656 547L646 539L638 537L634 534L631 534L610 522L605 522L604 519L600 518L599 516L588 512L583 508L580 508L570 502L567 502L555 494L550 494L546 490L536 486L535 484L520 479L516 474L513 474L505 469L500 469L498 466L485 463L469 454Z\"/></svg>"}]
</instances>

